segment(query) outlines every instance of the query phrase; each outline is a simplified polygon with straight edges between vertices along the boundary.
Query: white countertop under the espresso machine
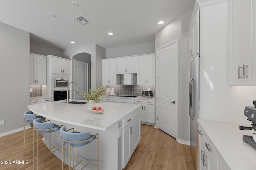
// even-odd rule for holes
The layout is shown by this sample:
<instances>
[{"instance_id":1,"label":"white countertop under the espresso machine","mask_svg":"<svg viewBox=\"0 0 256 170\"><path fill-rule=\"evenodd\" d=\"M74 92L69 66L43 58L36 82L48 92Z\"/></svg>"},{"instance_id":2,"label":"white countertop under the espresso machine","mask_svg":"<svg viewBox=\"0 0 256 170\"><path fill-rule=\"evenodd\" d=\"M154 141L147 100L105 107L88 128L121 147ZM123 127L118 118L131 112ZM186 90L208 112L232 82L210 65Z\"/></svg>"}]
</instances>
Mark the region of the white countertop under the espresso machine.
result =
<instances>
[{"instance_id":1,"label":"white countertop under the espresso machine","mask_svg":"<svg viewBox=\"0 0 256 170\"><path fill-rule=\"evenodd\" d=\"M246 117L245 117L246 118ZM243 135L255 133L253 130L239 130L238 126L251 126L222 121L198 120L232 170L255 170L256 150L243 141Z\"/></svg>"}]
</instances>

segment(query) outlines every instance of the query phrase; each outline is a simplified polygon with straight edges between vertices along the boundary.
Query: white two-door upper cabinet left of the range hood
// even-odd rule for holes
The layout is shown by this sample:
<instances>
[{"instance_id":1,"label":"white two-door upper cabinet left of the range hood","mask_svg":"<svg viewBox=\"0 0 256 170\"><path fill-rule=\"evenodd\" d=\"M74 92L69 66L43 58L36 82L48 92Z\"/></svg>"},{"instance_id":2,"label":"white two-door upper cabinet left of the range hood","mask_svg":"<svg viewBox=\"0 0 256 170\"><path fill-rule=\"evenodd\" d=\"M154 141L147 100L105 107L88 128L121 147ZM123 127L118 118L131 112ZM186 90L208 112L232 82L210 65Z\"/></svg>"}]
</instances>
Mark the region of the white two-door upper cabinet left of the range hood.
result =
<instances>
[{"instance_id":1,"label":"white two-door upper cabinet left of the range hood","mask_svg":"<svg viewBox=\"0 0 256 170\"><path fill-rule=\"evenodd\" d=\"M116 84L116 59L102 60L102 84Z\"/></svg>"}]
</instances>

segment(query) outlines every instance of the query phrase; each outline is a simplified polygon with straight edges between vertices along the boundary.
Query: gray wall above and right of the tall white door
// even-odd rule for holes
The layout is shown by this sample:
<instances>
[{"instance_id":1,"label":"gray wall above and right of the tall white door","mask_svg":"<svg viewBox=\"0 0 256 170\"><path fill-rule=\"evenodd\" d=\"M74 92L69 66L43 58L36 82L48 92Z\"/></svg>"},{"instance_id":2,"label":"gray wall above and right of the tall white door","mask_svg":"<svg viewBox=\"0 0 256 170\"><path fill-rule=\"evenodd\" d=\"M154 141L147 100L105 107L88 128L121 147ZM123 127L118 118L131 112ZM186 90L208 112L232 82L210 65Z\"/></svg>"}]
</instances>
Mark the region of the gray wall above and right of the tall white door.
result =
<instances>
[{"instance_id":1,"label":"gray wall above and right of the tall white door","mask_svg":"<svg viewBox=\"0 0 256 170\"><path fill-rule=\"evenodd\" d=\"M191 15L192 12L181 14L155 34L155 49L178 39L178 138L183 141L190 141L190 118L188 115L189 41L186 34Z\"/></svg>"}]
</instances>

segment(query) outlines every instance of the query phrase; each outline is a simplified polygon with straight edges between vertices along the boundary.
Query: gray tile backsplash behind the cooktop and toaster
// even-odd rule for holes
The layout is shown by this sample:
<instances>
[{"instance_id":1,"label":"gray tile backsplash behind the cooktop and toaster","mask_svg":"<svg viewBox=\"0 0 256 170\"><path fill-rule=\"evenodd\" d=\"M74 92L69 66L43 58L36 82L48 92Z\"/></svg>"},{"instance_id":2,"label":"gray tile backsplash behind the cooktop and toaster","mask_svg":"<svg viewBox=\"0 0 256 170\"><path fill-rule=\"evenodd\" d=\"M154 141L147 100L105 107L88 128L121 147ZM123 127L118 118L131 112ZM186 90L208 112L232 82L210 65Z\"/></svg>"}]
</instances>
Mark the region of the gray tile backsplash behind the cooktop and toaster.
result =
<instances>
[{"instance_id":1,"label":"gray tile backsplash behind the cooktop and toaster","mask_svg":"<svg viewBox=\"0 0 256 170\"><path fill-rule=\"evenodd\" d=\"M153 96L155 96L155 85L133 85L133 86L124 86L124 85L107 85L106 88L114 88L115 93L118 95L127 95L127 96L141 96L143 90L152 90Z\"/></svg>"}]
</instances>

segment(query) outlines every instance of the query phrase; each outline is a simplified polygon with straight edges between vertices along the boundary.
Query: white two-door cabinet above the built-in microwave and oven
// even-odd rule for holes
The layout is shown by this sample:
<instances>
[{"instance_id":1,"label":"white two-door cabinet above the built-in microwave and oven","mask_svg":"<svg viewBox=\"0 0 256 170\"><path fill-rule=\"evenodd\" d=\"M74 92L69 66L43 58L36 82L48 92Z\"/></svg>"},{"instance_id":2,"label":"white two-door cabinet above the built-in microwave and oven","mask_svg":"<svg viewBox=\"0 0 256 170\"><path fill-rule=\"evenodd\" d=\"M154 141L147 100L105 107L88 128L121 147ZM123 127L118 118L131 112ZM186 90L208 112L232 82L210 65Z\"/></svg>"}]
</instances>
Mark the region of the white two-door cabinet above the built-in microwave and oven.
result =
<instances>
[{"instance_id":1,"label":"white two-door cabinet above the built-in microwave and oven","mask_svg":"<svg viewBox=\"0 0 256 170\"><path fill-rule=\"evenodd\" d=\"M52 59L52 73L71 74L71 61L61 57L49 55Z\"/></svg>"}]
</instances>

